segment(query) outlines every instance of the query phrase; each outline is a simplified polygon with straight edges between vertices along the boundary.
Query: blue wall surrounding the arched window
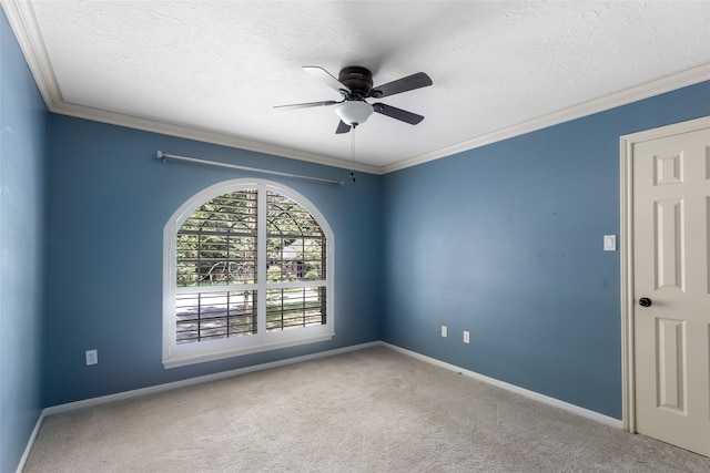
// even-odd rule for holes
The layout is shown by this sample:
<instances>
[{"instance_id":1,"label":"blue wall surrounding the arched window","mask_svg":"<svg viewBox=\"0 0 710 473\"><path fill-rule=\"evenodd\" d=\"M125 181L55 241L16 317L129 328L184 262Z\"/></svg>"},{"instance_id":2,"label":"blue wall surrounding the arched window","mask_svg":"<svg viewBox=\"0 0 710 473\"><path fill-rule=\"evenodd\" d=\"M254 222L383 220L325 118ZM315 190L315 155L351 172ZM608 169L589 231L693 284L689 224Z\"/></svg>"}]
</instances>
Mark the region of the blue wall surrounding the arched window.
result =
<instances>
[{"instance_id":1,"label":"blue wall surrounding the arched window","mask_svg":"<svg viewBox=\"0 0 710 473\"><path fill-rule=\"evenodd\" d=\"M163 227L199 191L247 173L155 158L162 150L325 178L262 176L300 192L335 234L335 338L166 370L162 366ZM62 115L49 117L45 405L379 339L382 177ZM87 367L84 351L99 350Z\"/></svg>"}]
</instances>

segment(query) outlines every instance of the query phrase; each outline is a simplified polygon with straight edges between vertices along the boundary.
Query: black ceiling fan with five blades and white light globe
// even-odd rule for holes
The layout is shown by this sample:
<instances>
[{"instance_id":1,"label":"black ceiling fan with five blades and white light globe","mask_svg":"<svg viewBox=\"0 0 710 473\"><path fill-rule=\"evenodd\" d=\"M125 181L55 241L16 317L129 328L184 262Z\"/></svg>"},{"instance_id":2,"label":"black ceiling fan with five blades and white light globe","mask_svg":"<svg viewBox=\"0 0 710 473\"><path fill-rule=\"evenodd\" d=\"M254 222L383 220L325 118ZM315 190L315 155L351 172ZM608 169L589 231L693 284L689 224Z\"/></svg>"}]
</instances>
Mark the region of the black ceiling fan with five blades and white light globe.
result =
<instances>
[{"instance_id":1,"label":"black ceiling fan with five blades and white light globe","mask_svg":"<svg viewBox=\"0 0 710 473\"><path fill-rule=\"evenodd\" d=\"M416 74L407 75L406 78L373 88L373 74L365 68L345 68L341 71L337 79L323 68L306 65L303 69L311 75L321 79L338 92L343 96L343 100L339 102L328 100L324 102L277 105L274 109L306 109L311 106L335 105L335 113L341 117L341 123L337 125L335 133L349 132L351 127L356 127L357 125L365 123L373 112L382 113L383 115L387 115L412 125L416 125L424 120L424 116L407 112L406 110L397 109L384 103L369 104L365 101L371 97L382 99L432 85L432 79L429 79L429 76L424 72L417 72Z\"/></svg>"}]
</instances>

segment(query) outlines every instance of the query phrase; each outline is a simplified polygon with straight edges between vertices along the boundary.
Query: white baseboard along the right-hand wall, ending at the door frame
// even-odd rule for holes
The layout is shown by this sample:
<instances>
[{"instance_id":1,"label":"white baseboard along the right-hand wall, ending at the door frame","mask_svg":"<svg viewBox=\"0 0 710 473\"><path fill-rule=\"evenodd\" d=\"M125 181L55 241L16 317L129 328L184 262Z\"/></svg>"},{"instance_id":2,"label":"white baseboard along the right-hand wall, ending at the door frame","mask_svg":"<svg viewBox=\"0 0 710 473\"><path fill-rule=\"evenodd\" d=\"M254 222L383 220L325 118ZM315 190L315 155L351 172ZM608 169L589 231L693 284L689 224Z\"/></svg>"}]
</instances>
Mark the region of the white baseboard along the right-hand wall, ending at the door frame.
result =
<instances>
[{"instance_id":1,"label":"white baseboard along the right-hand wall, ending at the door frame","mask_svg":"<svg viewBox=\"0 0 710 473\"><path fill-rule=\"evenodd\" d=\"M515 384L507 383L505 381L499 381L495 378L489 378L487 376L477 373L475 371L469 371L464 368L457 367L455 364L449 364L444 361L439 361L435 358L429 358L424 354L417 353L415 351L410 351L410 350L397 347L395 345L386 343L384 341L381 341L379 343L383 347L387 347L392 350L398 351L400 353L407 354L418 360L426 361L427 363L430 363L440 368L445 368L450 371L456 371L457 373L462 373L475 380L483 381L488 384L493 384L497 388L501 388L507 391L515 392L516 394L524 395L535 401L542 402L545 404L552 405L555 408L559 408L561 410L571 412L582 418L591 419L592 421L601 422L604 424L610 425L616 429L623 429L622 421L611 418L609 415L600 414L599 412L590 411L589 409L580 408L579 405L570 404L569 402L560 401L559 399L550 398L549 395L540 394L539 392L530 391L528 389L520 388Z\"/></svg>"}]
</instances>

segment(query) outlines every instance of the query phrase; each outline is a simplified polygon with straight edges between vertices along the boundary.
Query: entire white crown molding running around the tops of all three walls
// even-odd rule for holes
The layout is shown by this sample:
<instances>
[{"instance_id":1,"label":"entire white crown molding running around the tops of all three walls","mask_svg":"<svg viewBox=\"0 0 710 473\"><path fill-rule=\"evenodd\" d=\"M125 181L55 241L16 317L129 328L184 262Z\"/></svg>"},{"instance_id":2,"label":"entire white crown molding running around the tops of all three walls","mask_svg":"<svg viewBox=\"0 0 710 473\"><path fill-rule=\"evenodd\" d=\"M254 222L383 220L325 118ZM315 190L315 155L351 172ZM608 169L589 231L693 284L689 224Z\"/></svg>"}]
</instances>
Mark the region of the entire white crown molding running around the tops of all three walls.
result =
<instances>
[{"instance_id":1,"label":"entire white crown molding running around the tops of all three walls","mask_svg":"<svg viewBox=\"0 0 710 473\"><path fill-rule=\"evenodd\" d=\"M64 102L52 70L51 61L42 42L42 35L40 34L31 3L21 0L0 0L0 4L2 4L8 21L20 44L20 49L24 54L26 61L30 66L30 71L50 112L326 166L346 169L353 168L354 171L371 174L388 174L710 80L710 63L700 64L676 74L552 112L452 146L378 167L246 140L225 133L159 122L145 117L131 116Z\"/></svg>"}]
</instances>

